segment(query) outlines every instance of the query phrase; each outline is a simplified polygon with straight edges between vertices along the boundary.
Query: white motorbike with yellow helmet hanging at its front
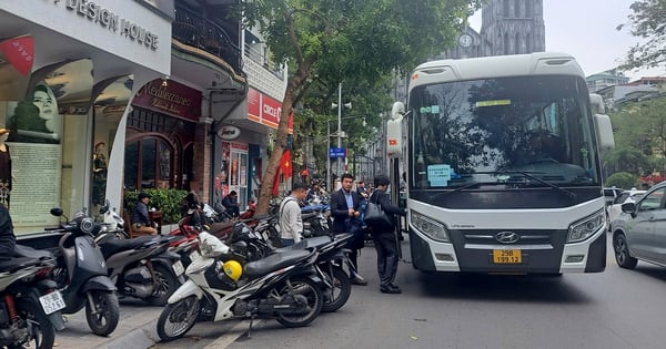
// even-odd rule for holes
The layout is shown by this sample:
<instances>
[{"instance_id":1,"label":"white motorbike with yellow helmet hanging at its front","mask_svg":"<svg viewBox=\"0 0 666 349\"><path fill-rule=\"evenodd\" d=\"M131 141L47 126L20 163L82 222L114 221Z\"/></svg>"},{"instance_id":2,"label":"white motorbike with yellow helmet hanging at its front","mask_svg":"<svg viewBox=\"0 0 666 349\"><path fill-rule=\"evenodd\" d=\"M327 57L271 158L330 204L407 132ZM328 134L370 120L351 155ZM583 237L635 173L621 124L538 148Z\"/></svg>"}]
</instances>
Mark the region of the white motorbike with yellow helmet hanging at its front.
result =
<instances>
[{"instance_id":1,"label":"white motorbike with yellow helmet hanging at its front","mask_svg":"<svg viewBox=\"0 0 666 349\"><path fill-rule=\"evenodd\" d=\"M228 245L212 234L199 234L202 258L185 270L189 279L169 298L158 319L158 335L173 340L185 335L198 318L274 318L286 327L306 326L319 316L323 279L315 268L317 254L293 250L244 266Z\"/></svg>"}]
</instances>

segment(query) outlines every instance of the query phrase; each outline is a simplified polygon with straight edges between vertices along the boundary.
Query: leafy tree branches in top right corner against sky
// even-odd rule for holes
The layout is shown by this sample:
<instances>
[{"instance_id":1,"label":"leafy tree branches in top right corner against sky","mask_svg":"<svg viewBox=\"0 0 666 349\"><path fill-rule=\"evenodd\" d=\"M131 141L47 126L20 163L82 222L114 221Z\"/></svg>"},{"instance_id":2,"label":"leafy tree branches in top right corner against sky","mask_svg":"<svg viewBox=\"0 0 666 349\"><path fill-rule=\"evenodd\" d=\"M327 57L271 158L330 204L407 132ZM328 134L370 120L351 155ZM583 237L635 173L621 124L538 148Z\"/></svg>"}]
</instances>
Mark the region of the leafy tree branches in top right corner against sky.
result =
<instances>
[{"instance_id":1,"label":"leafy tree branches in top right corner against sky","mask_svg":"<svg viewBox=\"0 0 666 349\"><path fill-rule=\"evenodd\" d=\"M620 69L653 68L666 62L666 1L634 1L628 16L634 37L645 39L629 48L626 61ZM622 30L624 24L617 27Z\"/></svg>"}]
</instances>

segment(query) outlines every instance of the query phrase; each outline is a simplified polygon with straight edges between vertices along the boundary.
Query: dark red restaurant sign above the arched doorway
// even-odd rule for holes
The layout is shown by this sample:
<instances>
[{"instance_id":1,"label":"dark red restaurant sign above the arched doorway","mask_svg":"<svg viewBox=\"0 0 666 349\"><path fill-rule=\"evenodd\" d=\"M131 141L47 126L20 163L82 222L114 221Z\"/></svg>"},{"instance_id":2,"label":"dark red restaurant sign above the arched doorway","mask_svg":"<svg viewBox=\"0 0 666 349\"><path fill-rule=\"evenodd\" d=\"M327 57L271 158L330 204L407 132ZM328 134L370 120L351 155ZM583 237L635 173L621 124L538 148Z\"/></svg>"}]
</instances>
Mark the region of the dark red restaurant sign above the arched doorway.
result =
<instances>
[{"instance_id":1,"label":"dark red restaurant sign above the arched doorway","mask_svg":"<svg viewBox=\"0 0 666 349\"><path fill-rule=\"evenodd\" d=\"M173 80L155 79L143 85L132 104L199 122L201 92Z\"/></svg>"}]
</instances>

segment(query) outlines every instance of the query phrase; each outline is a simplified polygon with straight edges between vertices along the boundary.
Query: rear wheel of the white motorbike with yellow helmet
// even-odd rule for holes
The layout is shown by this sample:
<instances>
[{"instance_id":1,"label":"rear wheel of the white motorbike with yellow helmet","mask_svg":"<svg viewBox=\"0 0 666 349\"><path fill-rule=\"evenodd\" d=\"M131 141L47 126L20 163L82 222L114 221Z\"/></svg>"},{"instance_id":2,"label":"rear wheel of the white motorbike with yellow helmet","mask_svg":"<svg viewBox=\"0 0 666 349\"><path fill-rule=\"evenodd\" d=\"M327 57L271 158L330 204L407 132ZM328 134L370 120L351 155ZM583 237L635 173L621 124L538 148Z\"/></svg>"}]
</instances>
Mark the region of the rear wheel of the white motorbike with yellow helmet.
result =
<instances>
[{"instance_id":1,"label":"rear wheel of the white motorbike with yellow helmet","mask_svg":"<svg viewBox=\"0 0 666 349\"><path fill-rule=\"evenodd\" d=\"M319 288L311 278L296 277L290 279L291 287L284 285L280 290L280 296L285 297L287 295L301 296L296 297L296 300L302 299L304 302L299 305L303 308L301 314L287 315L278 312L278 322L284 327L303 327L310 325L322 311L324 305L324 296L322 290Z\"/></svg>"}]
</instances>

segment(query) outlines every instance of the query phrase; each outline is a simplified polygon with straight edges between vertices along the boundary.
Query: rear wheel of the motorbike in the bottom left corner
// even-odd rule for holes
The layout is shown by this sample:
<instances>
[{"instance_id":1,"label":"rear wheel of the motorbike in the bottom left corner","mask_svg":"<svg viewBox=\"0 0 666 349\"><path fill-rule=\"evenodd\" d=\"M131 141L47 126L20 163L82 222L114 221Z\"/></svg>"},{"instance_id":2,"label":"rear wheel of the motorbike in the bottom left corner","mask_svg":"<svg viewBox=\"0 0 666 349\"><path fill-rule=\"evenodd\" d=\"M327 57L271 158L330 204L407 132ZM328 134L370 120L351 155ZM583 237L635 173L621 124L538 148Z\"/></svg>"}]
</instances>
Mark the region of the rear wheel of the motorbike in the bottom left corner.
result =
<instances>
[{"instance_id":1,"label":"rear wheel of the motorbike in the bottom left corner","mask_svg":"<svg viewBox=\"0 0 666 349\"><path fill-rule=\"evenodd\" d=\"M39 301L32 298L17 298L16 307L24 326L30 324L32 328L31 340L30 342L17 343L17 346L8 345L7 348L26 348L26 345L28 345L28 348L37 349L53 348L56 329L51 326L51 321Z\"/></svg>"}]
</instances>

